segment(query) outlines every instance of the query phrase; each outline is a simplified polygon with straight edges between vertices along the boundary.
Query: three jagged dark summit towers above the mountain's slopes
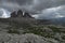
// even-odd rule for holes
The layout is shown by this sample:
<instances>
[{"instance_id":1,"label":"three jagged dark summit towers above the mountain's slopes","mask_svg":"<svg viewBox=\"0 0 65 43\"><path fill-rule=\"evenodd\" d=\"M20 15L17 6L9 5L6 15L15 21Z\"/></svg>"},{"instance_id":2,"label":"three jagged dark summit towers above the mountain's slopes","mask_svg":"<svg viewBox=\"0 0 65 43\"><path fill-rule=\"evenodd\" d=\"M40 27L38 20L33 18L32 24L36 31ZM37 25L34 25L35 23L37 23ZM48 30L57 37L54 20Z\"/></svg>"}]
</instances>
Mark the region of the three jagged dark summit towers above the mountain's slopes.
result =
<instances>
[{"instance_id":1,"label":"three jagged dark summit towers above the mountain's slopes","mask_svg":"<svg viewBox=\"0 0 65 43\"><path fill-rule=\"evenodd\" d=\"M27 12L23 12L22 10L18 10L17 12L11 13L11 17L29 17L32 18L31 15Z\"/></svg>"}]
</instances>

